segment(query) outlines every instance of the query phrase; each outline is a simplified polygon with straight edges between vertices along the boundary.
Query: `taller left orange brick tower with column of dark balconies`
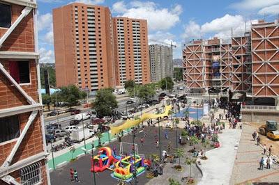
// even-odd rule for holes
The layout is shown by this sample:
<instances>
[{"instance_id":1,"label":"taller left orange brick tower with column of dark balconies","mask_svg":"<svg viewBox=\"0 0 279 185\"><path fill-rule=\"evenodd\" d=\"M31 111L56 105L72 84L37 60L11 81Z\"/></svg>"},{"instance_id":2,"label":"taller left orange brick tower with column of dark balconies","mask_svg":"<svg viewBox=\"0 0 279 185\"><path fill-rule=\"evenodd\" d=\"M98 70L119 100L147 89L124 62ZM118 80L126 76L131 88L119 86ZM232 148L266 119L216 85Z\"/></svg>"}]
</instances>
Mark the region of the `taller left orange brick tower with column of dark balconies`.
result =
<instances>
[{"instance_id":1,"label":"taller left orange brick tower with column of dark balconies","mask_svg":"<svg viewBox=\"0 0 279 185\"><path fill-rule=\"evenodd\" d=\"M115 86L112 16L103 6L71 3L53 10L57 86L90 91Z\"/></svg>"}]
</instances>

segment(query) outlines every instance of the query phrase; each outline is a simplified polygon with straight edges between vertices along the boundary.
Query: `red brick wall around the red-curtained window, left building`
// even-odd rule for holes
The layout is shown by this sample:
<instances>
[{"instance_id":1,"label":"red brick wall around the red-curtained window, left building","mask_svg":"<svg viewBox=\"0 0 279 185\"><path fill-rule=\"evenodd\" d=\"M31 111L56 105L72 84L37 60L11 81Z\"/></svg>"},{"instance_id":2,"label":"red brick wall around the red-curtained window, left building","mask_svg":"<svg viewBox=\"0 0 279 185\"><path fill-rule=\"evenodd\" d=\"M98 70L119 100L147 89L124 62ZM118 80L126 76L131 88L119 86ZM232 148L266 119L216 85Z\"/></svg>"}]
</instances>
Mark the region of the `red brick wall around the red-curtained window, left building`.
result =
<instances>
[{"instance_id":1,"label":"red brick wall around the red-curtained window, left building","mask_svg":"<svg viewBox=\"0 0 279 185\"><path fill-rule=\"evenodd\" d=\"M1 64L5 67L5 69L9 70L9 61L3 60ZM31 84L21 86L24 91L30 95L36 102L38 102L38 82L37 82L37 71L36 71L36 63L31 60L29 62L29 70L31 72ZM26 105L27 101L20 94L20 92L12 86L10 81L0 72L0 109L10 108L15 106Z\"/></svg>"}]
</instances>

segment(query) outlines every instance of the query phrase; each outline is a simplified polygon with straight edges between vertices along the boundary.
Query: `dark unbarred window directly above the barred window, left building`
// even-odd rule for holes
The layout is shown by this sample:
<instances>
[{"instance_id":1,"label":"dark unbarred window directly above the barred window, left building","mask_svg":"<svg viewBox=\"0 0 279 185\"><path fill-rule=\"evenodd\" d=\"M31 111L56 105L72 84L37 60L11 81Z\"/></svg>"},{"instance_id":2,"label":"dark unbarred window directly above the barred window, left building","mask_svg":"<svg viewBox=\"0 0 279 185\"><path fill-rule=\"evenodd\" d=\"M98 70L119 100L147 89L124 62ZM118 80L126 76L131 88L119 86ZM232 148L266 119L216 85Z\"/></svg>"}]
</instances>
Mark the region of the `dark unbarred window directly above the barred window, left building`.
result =
<instances>
[{"instance_id":1,"label":"dark unbarred window directly above the barred window, left building","mask_svg":"<svg viewBox=\"0 0 279 185\"><path fill-rule=\"evenodd\" d=\"M17 115L0 118L0 143L20 136L20 121Z\"/></svg>"}]
</instances>

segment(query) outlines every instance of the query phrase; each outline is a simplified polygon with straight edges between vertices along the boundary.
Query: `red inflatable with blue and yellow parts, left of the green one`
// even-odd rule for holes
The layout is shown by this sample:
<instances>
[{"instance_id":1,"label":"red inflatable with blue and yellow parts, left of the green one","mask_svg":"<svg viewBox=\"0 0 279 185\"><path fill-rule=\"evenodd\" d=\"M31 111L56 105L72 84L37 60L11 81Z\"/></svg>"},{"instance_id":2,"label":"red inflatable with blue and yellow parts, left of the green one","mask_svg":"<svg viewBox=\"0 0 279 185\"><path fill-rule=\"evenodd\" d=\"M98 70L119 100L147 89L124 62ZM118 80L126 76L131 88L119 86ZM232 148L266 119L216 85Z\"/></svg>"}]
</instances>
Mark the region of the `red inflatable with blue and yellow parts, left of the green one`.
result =
<instances>
[{"instance_id":1,"label":"red inflatable with blue and yellow parts, left of the green one","mask_svg":"<svg viewBox=\"0 0 279 185\"><path fill-rule=\"evenodd\" d=\"M106 169L112 170L114 163L121 160L121 156L116 156L110 147L101 147L98 155L91 159L91 172L103 172Z\"/></svg>"}]
</instances>

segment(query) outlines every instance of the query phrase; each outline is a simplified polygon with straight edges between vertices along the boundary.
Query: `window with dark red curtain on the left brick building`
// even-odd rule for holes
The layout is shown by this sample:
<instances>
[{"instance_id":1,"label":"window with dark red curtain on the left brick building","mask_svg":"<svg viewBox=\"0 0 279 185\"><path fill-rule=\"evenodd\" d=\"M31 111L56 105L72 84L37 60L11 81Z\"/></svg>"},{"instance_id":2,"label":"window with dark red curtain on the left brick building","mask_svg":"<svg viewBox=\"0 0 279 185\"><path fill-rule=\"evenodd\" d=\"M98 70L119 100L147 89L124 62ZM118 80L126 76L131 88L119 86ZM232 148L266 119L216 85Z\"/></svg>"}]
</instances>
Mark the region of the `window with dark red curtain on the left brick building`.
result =
<instances>
[{"instance_id":1,"label":"window with dark red curtain on the left brick building","mask_svg":"<svg viewBox=\"0 0 279 185\"><path fill-rule=\"evenodd\" d=\"M10 61L10 76L17 83L30 83L29 61Z\"/></svg>"}]
</instances>

